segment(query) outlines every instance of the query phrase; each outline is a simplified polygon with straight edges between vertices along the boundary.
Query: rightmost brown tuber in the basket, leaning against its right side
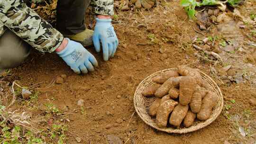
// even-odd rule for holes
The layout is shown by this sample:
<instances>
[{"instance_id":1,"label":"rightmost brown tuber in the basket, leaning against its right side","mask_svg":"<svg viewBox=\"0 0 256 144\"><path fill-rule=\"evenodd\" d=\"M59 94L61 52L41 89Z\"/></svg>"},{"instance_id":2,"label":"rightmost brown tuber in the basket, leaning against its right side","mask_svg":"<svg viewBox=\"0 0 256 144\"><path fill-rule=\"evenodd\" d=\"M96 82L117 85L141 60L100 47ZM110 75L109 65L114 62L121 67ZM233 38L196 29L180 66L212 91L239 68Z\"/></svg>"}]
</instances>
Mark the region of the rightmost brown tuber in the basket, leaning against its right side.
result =
<instances>
[{"instance_id":1,"label":"rightmost brown tuber in the basket, leaning against its right side","mask_svg":"<svg viewBox=\"0 0 256 144\"><path fill-rule=\"evenodd\" d=\"M215 92L209 91L206 96L202 99L202 105L199 113L197 113L197 118L199 120L206 120L210 117L212 108L217 103L217 96Z\"/></svg>"}]
</instances>

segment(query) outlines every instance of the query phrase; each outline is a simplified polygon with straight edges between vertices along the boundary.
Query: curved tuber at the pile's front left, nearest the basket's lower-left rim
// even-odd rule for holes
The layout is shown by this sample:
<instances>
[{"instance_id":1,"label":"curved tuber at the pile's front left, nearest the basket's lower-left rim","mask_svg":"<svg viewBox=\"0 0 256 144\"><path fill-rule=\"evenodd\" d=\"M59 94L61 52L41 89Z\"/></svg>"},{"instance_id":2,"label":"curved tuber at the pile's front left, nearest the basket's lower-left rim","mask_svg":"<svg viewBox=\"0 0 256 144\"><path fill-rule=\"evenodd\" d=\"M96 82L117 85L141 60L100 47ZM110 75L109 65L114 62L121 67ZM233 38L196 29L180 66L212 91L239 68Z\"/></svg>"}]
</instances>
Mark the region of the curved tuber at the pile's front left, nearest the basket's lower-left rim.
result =
<instances>
[{"instance_id":1,"label":"curved tuber at the pile's front left, nearest the basket's lower-left rim","mask_svg":"<svg viewBox=\"0 0 256 144\"><path fill-rule=\"evenodd\" d=\"M157 110L155 123L159 127L166 127L169 114L173 111L178 102L173 99L164 101ZM184 116L185 117L185 116Z\"/></svg>"}]
</instances>

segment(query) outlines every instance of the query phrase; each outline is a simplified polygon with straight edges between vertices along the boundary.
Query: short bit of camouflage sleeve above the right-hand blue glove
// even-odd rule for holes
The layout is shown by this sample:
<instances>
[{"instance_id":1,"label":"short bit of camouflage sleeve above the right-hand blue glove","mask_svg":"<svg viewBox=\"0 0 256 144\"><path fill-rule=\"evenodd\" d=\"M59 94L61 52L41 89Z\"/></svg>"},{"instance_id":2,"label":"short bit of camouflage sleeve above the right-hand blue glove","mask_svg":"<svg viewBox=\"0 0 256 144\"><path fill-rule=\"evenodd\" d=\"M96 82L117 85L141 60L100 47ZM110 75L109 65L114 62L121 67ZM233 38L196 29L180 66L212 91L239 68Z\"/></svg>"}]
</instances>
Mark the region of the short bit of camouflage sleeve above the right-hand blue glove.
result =
<instances>
[{"instance_id":1,"label":"short bit of camouflage sleeve above the right-hand blue glove","mask_svg":"<svg viewBox=\"0 0 256 144\"><path fill-rule=\"evenodd\" d=\"M114 15L114 0L91 0L91 7L98 15Z\"/></svg>"}]
</instances>

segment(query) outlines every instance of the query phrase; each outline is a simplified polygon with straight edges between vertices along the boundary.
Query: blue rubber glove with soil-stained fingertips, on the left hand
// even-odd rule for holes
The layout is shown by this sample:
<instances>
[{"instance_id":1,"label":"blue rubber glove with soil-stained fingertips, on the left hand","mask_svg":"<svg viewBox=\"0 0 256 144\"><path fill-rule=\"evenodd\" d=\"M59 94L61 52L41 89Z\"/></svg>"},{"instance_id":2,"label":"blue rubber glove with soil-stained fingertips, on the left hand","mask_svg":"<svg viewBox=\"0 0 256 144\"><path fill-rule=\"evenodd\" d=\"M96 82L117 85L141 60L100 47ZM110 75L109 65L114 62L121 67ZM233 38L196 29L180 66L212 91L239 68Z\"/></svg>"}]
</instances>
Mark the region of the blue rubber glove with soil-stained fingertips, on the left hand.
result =
<instances>
[{"instance_id":1,"label":"blue rubber glove with soil-stained fingertips, on the left hand","mask_svg":"<svg viewBox=\"0 0 256 144\"><path fill-rule=\"evenodd\" d=\"M68 39L68 38L66 38ZM94 71L98 66L95 57L88 52L80 43L68 39L68 44L61 52L56 52L77 73L88 73ZM94 67L93 67L94 66Z\"/></svg>"}]
</instances>

